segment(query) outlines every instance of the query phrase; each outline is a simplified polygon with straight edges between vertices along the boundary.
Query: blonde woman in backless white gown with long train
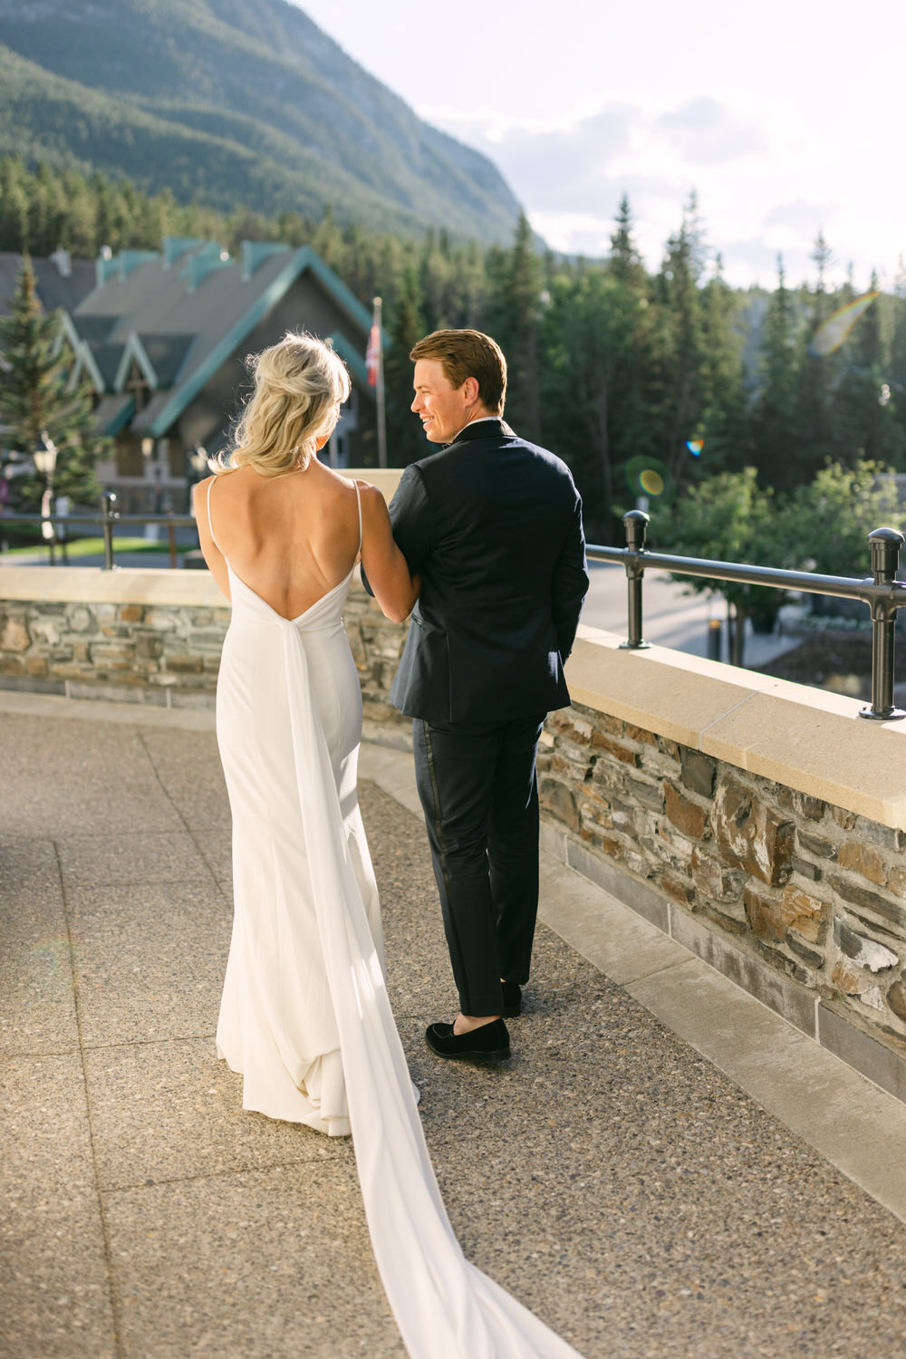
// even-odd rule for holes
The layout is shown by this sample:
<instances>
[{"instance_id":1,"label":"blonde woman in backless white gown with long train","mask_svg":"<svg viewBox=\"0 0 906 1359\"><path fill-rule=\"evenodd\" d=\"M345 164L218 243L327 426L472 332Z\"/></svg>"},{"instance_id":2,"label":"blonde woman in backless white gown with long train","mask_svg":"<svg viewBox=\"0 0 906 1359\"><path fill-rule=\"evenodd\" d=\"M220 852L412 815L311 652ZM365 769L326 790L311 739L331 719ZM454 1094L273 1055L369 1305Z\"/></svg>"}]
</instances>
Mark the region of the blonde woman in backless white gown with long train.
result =
<instances>
[{"instance_id":1,"label":"blonde woman in backless white gown with long train","mask_svg":"<svg viewBox=\"0 0 906 1359\"><path fill-rule=\"evenodd\" d=\"M217 1053L242 1072L243 1108L352 1132L375 1258L412 1359L576 1359L462 1254L387 999L342 609L359 557L397 621L420 582L380 492L316 458L348 395L334 351L287 334L254 360L230 465L194 489L201 549L232 603L217 743L235 912Z\"/></svg>"}]
</instances>

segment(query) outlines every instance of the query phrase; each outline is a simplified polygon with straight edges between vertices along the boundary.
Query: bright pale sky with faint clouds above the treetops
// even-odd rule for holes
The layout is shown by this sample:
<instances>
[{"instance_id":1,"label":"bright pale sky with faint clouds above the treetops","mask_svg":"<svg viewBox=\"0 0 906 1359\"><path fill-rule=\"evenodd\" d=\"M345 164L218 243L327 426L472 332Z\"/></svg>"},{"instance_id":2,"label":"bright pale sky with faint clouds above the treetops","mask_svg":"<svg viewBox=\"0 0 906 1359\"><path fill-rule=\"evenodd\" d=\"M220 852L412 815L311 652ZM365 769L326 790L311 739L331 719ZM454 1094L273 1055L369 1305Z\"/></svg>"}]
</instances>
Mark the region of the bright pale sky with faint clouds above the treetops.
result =
<instances>
[{"instance_id":1,"label":"bright pale sky with faint clouds above the treetops","mask_svg":"<svg viewBox=\"0 0 906 1359\"><path fill-rule=\"evenodd\" d=\"M736 287L906 255L903 0L297 0L420 117L484 151L557 250L603 255L623 193L649 268L690 193Z\"/></svg>"}]
</instances>

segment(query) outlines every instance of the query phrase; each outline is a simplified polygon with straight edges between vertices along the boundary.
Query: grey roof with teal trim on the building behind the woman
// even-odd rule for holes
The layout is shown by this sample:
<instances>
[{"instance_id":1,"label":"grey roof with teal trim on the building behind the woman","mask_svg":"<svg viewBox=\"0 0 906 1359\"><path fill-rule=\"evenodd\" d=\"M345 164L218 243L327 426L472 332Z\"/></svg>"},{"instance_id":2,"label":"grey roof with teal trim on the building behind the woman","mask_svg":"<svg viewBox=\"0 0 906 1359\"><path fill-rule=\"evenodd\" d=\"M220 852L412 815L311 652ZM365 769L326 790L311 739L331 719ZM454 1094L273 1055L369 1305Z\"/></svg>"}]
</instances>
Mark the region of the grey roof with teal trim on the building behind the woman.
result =
<instances>
[{"instance_id":1,"label":"grey roof with teal trim on the building behind the woman","mask_svg":"<svg viewBox=\"0 0 906 1359\"><path fill-rule=\"evenodd\" d=\"M361 386L371 315L310 246L243 242L234 260L212 241L167 238L162 254L124 251L98 261L99 287L72 313L83 363L102 390L122 391L134 359L152 389L132 421L162 436L240 348L293 283L310 273L340 313L331 338Z\"/></svg>"}]
</instances>

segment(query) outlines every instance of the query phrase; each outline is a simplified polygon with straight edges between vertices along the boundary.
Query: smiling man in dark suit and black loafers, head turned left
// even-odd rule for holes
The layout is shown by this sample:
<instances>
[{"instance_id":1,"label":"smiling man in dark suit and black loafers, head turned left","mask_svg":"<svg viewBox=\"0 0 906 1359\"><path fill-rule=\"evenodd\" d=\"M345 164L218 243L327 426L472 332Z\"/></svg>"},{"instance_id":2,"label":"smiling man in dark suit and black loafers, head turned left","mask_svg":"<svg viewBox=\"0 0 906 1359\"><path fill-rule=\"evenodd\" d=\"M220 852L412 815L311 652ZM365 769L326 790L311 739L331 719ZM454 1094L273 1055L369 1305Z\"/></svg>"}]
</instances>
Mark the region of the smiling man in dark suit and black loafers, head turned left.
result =
<instances>
[{"instance_id":1,"label":"smiling man in dark suit and black loafers, head turned left","mask_svg":"<svg viewBox=\"0 0 906 1359\"><path fill-rule=\"evenodd\" d=\"M562 667L588 590L581 500L566 465L503 420L507 361L489 336L436 330L409 357L436 451L390 504L422 578L390 697L413 718L460 1007L425 1038L440 1057L503 1059L538 913L538 738L569 703Z\"/></svg>"}]
</instances>

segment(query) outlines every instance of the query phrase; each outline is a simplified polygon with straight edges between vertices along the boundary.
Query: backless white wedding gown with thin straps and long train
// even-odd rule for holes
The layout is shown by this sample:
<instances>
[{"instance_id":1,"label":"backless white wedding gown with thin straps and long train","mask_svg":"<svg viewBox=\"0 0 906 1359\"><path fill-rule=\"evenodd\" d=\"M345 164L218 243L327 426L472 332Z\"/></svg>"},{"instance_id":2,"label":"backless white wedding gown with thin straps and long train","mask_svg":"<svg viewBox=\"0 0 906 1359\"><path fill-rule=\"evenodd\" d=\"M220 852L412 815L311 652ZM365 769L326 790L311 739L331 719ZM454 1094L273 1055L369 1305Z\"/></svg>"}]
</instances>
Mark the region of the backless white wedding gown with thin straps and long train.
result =
<instances>
[{"instance_id":1,"label":"backless white wedding gown with thin straps and long train","mask_svg":"<svg viewBox=\"0 0 906 1359\"><path fill-rule=\"evenodd\" d=\"M361 548L361 506L359 533ZM211 534L216 545L213 523ZM217 742L235 921L217 1052L242 1072L246 1109L352 1131L371 1243L412 1359L579 1359L469 1264L428 1157L356 796L361 693L342 626L352 571L288 620L227 569Z\"/></svg>"}]
</instances>

